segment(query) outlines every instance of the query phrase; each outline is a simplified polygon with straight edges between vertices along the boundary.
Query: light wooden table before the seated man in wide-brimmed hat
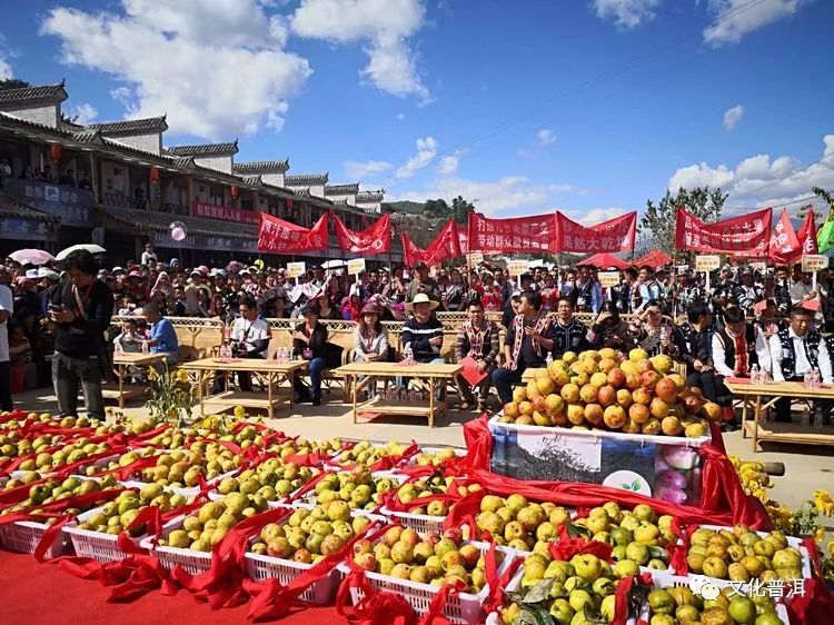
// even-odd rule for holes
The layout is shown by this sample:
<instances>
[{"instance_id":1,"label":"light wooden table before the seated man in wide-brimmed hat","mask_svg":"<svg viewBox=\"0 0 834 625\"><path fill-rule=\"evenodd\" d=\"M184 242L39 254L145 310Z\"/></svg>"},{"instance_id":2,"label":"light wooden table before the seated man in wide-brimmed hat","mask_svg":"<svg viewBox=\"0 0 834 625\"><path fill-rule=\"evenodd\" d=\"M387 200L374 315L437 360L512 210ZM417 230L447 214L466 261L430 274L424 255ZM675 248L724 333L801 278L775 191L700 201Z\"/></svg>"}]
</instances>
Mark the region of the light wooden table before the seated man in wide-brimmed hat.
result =
<instances>
[{"instance_id":1,"label":"light wooden table before the seated man in wide-brimmed hat","mask_svg":"<svg viewBox=\"0 0 834 625\"><path fill-rule=\"evenodd\" d=\"M345 385L350 385L354 394L354 423L359 413L364 410L373 410L379 415L416 415L416 416L428 416L429 427L435 427L435 413L439 411L441 415L446 415L448 411L448 395L447 386L449 381L454 381L455 377L464 370L463 365L424 365L416 363L414 365L400 365L397 363L350 363L344 365L338 369L334 370L337 376L345 377ZM359 378L366 376L365 379ZM360 390L370 384L374 378L397 378L397 377L409 377L428 380L428 400L418 401L384 401L379 399L370 399L368 401L359 403L357 396ZM350 379L353 378L353 379ZM443 401L436 405L435 400L435 388L438 383L441 383L440 393Z\"/></svg>"}]
</instances>

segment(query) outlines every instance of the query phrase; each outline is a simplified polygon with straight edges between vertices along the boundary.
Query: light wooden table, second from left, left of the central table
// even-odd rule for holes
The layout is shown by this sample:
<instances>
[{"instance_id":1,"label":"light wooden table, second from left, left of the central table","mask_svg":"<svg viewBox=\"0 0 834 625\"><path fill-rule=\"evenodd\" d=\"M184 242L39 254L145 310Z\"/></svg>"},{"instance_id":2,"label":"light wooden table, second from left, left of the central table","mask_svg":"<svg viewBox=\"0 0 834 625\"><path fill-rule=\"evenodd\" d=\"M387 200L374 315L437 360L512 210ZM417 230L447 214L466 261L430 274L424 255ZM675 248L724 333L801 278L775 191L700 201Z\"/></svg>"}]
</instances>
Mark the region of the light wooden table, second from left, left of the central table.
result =
<instances>
[{"instance_id":1,"label":"light wooden table, second from left, left of the central table","mask_svg":"<svg viewBox=\"0 0 834 625\"><path fill-rule=\"evenodd\" d=\"M292 375L307 367L306 360L290 360L278 363L266 358L203 358L180 365L185 369L197 375L198 399L200 401L200 415L206 415L205 407L219 406L221 409L244 406L246 408L258 408L267 410L269 418L275 418L276 406L288 403L292 404ZM214 381L219 373L231 374L234 371L249 371L266 383L267 393L249 393L242 390L229 390L229 378L226 377L226 389L217 395L210 395L207 385ZM289 393L279 393L277 388L289 381Z\"/></svg>"}]
</instances>

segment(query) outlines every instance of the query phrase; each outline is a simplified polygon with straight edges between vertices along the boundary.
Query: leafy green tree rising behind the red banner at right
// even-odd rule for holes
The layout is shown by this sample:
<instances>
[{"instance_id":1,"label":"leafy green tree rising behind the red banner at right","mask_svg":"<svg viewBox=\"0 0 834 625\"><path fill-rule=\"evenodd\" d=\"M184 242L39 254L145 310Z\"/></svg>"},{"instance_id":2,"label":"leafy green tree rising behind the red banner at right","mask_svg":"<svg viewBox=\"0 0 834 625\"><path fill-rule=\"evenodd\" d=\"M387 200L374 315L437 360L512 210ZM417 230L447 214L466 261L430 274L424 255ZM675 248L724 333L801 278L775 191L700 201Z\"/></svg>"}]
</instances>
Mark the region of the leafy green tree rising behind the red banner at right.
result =
<instances>
[{"instance_id":1,"label":"leafy green tree rising behind the red banner at right","mask_svg":"<svg viewBox=\"0 0 834 625\"><path fill-rule=\"evenodd\" d=\"M666 195L657 204L651 199L646 200L646 212L639 222L641 235L644 240L651 239L649 247L653 249L674 255L677 208L685 208L703 221L717 221L728 195L722 192L721 188L711 190L709 187L681 187L674 196L666 189Z\"/></svg>"}]
</instances>

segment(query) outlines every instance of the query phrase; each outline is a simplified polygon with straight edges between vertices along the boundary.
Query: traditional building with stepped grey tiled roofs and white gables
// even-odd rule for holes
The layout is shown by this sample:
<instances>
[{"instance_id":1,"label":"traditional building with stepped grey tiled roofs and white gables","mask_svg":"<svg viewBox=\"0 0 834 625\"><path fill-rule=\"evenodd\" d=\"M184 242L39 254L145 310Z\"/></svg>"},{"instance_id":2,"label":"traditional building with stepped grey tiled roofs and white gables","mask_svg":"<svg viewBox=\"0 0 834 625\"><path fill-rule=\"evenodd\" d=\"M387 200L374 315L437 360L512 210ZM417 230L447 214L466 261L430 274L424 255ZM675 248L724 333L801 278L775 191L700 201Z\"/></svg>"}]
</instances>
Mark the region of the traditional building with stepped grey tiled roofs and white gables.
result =
<instances>
[{"instance_id":1,"label":"traditional building with stepped grey tiled roofs and white gables","mask_svg":"<svg viewBox=\"0 0 834 625\"><path fill-rule=\"evenodd\" d=\"M93 240L116 261L138 258L150 239L191 250L183 260L224 262L257 255L259 212L309 227L335 210L360 229L381 192L288 176L288 159L235 162L237 140L166 146L166 116L72 123L67 98L63 82L0 91L0 163L11 168L0 173L0 252ZM186 225L180 244L172 221Z\"/></svg>"}]
</instances>

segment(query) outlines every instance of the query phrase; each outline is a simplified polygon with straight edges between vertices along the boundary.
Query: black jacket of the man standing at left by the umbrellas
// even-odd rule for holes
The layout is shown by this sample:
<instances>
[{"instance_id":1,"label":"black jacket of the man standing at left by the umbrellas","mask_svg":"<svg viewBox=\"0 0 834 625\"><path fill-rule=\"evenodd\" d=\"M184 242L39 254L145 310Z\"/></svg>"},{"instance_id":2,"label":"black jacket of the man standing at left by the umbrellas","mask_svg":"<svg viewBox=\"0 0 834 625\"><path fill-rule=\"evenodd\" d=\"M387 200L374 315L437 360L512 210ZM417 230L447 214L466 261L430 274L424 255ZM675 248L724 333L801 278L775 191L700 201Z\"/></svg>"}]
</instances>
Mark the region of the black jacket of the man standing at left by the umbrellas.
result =
<instances>
[{"instance_id":1,"label":"black jacket of the man standing at left by the umbrellas","mask_svg":"<svg viewBox=\"0 0 834 625\"><path fill-rule=\"evenodd\" d=\"M113 312L113 291L101 280L96 280L88 288L80 289L79 295L87 318L78 310L70 280L61 281L52 292L52 304L76 312L71 324L56 324L54 350L70 358L89 358L98 356L105 341L105 331Z\"/></svg>"}]
</instances>

